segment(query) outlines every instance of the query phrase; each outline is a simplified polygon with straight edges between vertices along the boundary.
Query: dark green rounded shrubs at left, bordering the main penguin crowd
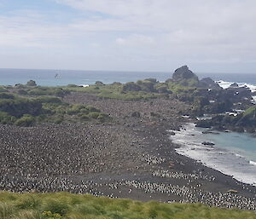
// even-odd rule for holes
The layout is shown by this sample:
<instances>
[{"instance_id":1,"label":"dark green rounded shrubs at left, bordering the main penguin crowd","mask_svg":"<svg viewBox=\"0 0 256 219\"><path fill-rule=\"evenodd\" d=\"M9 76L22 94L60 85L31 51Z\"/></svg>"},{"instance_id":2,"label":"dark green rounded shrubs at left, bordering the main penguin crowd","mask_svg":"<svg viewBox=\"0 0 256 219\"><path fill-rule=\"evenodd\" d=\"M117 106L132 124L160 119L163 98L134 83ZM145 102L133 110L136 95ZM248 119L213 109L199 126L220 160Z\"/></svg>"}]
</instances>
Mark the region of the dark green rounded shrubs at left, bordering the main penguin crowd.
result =
<instances>
[{"instance_id":1,"label":"dark green rounded shrubs at left, bordering the main penguin crowd","mask_svg":"<svg viewBox=\"0 0 256 219\"><path fill-rule=\"evenodd\" d=\"M71 105L54 96L24 97L0 93L0 123L32 126L36 122L108 122L108 114L91 106Z\"/></svg>"}]
</instances>

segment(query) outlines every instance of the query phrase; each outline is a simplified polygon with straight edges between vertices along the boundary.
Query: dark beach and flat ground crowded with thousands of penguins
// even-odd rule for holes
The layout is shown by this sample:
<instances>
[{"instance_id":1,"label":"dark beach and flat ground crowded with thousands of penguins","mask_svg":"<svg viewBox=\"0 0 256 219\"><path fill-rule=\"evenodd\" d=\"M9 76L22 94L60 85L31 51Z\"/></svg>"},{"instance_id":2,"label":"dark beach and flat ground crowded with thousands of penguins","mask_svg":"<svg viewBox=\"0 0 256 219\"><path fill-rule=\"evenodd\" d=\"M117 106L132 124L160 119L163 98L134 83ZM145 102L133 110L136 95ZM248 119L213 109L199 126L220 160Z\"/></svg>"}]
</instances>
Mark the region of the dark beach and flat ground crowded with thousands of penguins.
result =
<instances>
[{"instance_id":1,"label":"dark beach and flat ground crowded with thousands of penguins","mask_svg":"<svg viewBox=\"0 0 256 219\"><path fill-rule=\"evenodd\" d=\"M98 107L113 122L0 125L0 190L256 209L255 187L175 153L167 130L185 122L178 115L188 107L184 103L118 101L85 93L67 95L64 101ZM230 189L238 193L227 193Z\"/></svg>"}]
</instances>

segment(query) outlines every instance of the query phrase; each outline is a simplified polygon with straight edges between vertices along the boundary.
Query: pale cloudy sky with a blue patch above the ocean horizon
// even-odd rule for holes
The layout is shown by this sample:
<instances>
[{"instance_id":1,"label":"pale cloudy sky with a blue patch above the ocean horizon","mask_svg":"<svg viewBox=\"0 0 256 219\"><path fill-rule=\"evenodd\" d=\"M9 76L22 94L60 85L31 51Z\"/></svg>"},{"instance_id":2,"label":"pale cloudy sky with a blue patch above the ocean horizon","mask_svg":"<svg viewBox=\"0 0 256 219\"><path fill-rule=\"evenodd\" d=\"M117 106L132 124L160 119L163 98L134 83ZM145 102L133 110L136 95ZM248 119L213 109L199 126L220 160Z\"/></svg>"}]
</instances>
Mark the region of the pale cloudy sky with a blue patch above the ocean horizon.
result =
<instances>
[{"instance_id":1,"label":"pale cloudy sky with a blue patch above the ocean horizon","mask_svg":"<svg viewBox=\"0 0 256 219\"><path fill-rule=\"evenodd\" d=\"M255 0L0 0L0 68L256 73Z\"/></svg>"}]
</instances>

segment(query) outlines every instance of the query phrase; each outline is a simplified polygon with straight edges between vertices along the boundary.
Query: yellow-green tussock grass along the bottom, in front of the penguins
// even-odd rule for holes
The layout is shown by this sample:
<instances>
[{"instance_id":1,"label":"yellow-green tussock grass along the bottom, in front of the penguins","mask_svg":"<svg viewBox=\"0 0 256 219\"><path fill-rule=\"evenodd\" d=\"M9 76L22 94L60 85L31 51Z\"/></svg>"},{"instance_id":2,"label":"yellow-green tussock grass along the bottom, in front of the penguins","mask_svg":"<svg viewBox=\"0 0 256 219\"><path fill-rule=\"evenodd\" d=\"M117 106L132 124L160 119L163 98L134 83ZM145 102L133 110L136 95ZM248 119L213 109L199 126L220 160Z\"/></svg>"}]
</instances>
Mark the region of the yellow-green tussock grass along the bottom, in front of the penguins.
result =
<instances>
[{"instance_id":1,"label":"yellow-green tussock grass along the bottom, in front of the penguins","mask_svg":"<svg viewBox=\"0 0 256 219\"><path fill-rule=\"evenodd\" d=\"M255 212L210 208L201 204L142 203L130 199L96 198L70 193L0 192L0 218L16 219L253 219Z\"/></svg>"}]
</instances>

